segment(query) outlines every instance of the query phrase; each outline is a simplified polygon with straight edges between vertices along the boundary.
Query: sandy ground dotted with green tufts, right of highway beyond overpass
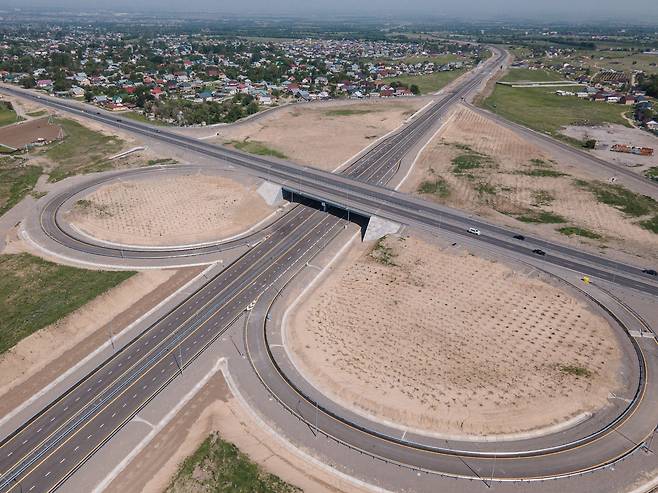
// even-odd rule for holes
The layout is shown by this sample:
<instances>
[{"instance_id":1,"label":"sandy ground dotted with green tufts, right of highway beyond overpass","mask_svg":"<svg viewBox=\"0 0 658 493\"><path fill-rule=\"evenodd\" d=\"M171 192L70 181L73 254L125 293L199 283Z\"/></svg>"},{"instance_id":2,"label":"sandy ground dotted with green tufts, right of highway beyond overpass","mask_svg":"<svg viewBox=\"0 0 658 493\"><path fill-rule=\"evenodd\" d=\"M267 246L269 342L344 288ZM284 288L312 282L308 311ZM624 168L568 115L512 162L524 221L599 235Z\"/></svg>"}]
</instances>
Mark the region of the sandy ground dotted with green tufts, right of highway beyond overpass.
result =
<instances>
[{"instance_id":1,"label":"sandy ground dotted with green tufts, right of highway beyond overpass","mask_svg":"<svg viewBox=\"0 0 658 493\"><path fill-rule=\"evenodd\" d=\"M452 159L468 152L459 148L463 145L491 160L482 168L468 170L470 178L453 172ZM543 164L534 166L532 160L543 161ZM538 168L562 172L565 176L526 174ZM572 163L556 162L514 132L466 108L455 111L452 119L419 156L402 190L417 193L421 182L436 177L445 180L449 193L443 197L423 194L429 200L473 211L494 222L547 239L605 251L610 256L627 254L658 258L658 235L638 226L638 219L628 218L617 209L599 203L591 193L574 183L575 178L591 181L596 177L585 174ZM493 193L479 191L481 185L490 187ZM539 210L560 214L568 222L529 224L511 215ZM564 226L586 228L602 238L569 238L556 231Z\"/></svg>"}]
</instances>

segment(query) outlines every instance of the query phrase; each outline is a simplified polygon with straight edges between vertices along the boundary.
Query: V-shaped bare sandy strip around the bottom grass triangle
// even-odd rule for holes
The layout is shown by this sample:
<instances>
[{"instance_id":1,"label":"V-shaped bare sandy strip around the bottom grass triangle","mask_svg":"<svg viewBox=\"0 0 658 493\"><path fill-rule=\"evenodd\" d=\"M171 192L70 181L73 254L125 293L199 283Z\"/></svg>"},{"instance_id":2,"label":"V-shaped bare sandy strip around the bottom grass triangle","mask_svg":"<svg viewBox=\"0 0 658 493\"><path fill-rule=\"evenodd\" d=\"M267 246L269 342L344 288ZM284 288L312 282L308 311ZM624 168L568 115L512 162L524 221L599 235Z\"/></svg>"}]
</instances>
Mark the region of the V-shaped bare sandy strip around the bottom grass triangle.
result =
<instances>
[{"instance_id":1,"label":"V-shaped bare sandy strip around the bottom grass triangle","mask_svg":"<svg viewBox=\"0 0 658 493\"><path fill-rule=\"evenodd\" d=\"M212 432L284 481L313 493L362 491L304 461L255 423L216 375L107 488L107 493L160 493L179 464ZM175 491L195 491L179 485Z\"/></svg>"}]
</instances>

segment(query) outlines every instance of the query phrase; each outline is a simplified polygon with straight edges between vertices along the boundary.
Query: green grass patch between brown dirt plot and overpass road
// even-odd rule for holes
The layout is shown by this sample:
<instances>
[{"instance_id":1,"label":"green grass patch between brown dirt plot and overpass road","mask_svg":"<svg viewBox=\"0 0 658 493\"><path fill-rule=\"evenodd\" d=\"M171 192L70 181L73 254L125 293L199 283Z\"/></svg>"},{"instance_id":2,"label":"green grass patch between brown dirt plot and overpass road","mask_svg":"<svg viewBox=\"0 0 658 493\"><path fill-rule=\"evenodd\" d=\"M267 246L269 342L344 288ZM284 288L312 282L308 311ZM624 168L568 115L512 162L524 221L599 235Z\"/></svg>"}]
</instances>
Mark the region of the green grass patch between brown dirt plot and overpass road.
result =
<instances>
[{"instance_id":1,"label":"green grass patch between brown dirt plot and overpass road","mask_svg":"<svg viewBox=\"0 0 658 493\"><path fill-rule=\"evenodd\" d=\"M56 165L50 181L106 170L110 167L107 158L123 147L120 138L95 132L73 120L58 119L56 123L64 129L65 137L43 151Z\"/></svg>"}]
</instances>

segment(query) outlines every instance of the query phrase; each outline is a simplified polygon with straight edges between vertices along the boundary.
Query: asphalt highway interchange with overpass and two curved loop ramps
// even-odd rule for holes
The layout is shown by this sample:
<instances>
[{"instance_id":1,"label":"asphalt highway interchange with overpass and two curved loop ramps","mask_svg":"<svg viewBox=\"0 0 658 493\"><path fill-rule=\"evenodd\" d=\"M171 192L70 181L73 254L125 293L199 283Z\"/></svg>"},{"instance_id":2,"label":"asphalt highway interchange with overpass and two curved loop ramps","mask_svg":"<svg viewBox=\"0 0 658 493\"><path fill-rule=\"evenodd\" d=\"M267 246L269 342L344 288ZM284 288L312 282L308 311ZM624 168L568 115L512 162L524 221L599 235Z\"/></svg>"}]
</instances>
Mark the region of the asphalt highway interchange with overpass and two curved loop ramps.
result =
<instances>
[{"instance_id":1,"label":"asphalt highway interchange with overpass and two curved loop ramps","mask_svg":"<svg viewBox=\"0 0 658 493\"><path fill-rule=\"evenodd\" d=\"M458 211L383 188L397 173L400 161L423 139L437 119L455 102L475 91L504 54L496 51L493 60L471 78L465 78L446 96L407 123L399 132L355 161L341 175L332 175L290 163L263 159L218 148L173 132L81 110L76 105L41 100L63 111L78 112L124 130L159 139L170 145L197 152L246 168L262 178L278 182L286 189L321 199L365 216L378 215L432 231L444 230L464 235L465 226L475 225L485 234L478 238L502 248L510 255L532 258L532 248L540 246L549 254L542 262L566 267L651 295L658 284L646 278L639 266L605 259L539 238L518 242L514 232L482 221L466 218ZM25 93L18 91L21 96ZM30 97L35 97L30 95ZM139 173L140 171L125 172ZM98 183L102 179L98 179ZM98 183L85 183L92 186ZM76 188L49 199L41 210L40 225L54 242L71 255L147 259L157 265L171 257L201 257L251 242L251 248L210 280L185 302L149 327L112 358L83 378L51 405L5 439L0 446L0 491L50 491L60 486L78 467L142 407L167 386L182 369L216 340L246 307L282 280L291 278L331 239L344 230L347 221L338 215L296 205L283 216L254 234L233 242L184 249L124 249L82 240L67 231L58 220L61 207L81 192ZM621 323L621 322L620 322ZM292 406L304 396L277 366L265 339L266 332L249 332L247 347L259 378L284 405ZM461 477L478 477L493 458L505 459L498 478L551 477L591 470L635 452L653 432L656 392L647 386L647 375L655 375L655 342L629 338L638 358L635 397L623 412L599 429L575 430L568 436L544 437L541 441L507 442L504 446L468 443L421 443L393 438L372 423L357 424L322 405L305 398L301 416L315 413L314 426L353 448L386 457L392 462L413 465L427 471L440 471ZM654 381L655 377L651 379ZM649 403L649 405L647 405ZM319 414L319 417L318 417ZM624 439L632 436L634 440ZM416 440L417 439L417 440ZM553 442L551 442L553 440ZM595 445L595 446L593 446ZM559 460L555 460L559 452ZM468 459L468 462L465 461Z\"/></svg>"}]
</instances>

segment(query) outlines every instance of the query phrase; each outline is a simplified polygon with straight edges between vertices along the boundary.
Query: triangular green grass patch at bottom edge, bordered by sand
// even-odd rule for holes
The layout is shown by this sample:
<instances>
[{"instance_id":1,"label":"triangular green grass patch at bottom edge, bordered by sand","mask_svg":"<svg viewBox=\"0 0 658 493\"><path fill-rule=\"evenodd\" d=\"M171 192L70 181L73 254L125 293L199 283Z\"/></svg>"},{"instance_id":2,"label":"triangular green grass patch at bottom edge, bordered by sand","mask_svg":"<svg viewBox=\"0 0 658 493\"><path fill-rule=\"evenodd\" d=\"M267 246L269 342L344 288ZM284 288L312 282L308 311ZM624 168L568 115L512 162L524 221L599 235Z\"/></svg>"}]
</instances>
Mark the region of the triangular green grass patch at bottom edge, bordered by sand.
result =
<instances>
[{"instance_id":1,"label":"triangular green grass patch at bottom edge, bordered by sand","mask_svg":"<svg viewBox=\"0 0 658 493\"><path fill-rule=\"evenodd\" d=\"M183 461L166 490L216 493L301 493L299 488L262 470L217 433Z\"/></svg>"}]
</instances>

